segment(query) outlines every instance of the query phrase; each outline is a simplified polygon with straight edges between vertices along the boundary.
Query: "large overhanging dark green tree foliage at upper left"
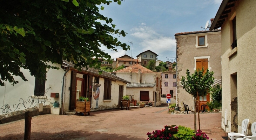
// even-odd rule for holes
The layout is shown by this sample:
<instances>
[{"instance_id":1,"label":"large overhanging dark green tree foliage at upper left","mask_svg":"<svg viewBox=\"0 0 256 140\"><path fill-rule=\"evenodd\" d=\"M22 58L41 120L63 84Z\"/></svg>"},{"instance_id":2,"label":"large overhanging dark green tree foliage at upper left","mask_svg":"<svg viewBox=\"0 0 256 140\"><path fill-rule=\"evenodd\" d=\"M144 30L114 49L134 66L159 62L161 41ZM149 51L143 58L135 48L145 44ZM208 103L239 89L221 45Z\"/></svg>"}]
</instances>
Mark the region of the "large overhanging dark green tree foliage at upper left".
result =
<instances>
[{"instance_id":1,"label":"large overhanging dark green tree foliage at upper left","mask_svg":"<svg viewBox=\"0 0 256 140\"><path fill-rule=\"evenodd\" d=\"M99 47L117 50L129 46L117 40L125 36L114 29L112 19L99 13L107 0L1 0L0 5L0 85L5 81L24 81L21 72L28 69L32 76L45 79L50 63L62 60L74 67L100 67L98 57L111 61ZM120 0L114 0L121 4ZM92 57L96 57L92 59ZM46 80L46 79L45 79Z\"/></svg>"}]
</instances>

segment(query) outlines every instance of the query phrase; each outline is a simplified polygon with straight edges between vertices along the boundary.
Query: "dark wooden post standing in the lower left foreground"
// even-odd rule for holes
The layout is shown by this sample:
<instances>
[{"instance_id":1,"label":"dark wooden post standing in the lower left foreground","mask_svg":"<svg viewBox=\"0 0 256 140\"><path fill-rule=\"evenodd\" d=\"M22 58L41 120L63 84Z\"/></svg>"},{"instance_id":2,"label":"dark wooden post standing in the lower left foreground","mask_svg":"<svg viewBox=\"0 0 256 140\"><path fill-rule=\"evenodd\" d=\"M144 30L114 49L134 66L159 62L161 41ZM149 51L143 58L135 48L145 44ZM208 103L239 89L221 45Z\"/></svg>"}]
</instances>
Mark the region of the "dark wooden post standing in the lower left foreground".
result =
<instances>
[{"instance_id":1,"label":"dark wooden post standing in the lower left foreground","mask_svg":"<svg viewBox=\"0 0 256 140\"><path fill-rule=\"evenodd\" d=\"M30 140L32 115L30 111L25 112L24 140Z\"/></svg>"}]
</instances>

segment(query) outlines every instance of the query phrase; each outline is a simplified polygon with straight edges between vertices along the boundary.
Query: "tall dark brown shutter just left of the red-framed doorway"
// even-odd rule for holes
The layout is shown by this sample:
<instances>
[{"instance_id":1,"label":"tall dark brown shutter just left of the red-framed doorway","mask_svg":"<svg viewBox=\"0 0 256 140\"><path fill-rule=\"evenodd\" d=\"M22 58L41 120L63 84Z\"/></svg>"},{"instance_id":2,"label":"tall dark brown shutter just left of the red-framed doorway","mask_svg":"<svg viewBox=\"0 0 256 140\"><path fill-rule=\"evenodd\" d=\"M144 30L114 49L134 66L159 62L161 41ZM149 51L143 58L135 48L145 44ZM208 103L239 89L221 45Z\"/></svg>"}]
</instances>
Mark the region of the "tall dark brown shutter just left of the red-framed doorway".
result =
<instances>
[{"instance_id":1,"label":"tall dark brown shutter just left of the red-framed doorway","mask_svg":"<svg viewBox=\"0 0 256 140\"><path fill-rule=\"evenodd\" d=\"M69 110L75 109L76 101L76 71L71 72L71 85L70 85L70 98L69 98Z\"/></svg>"}]
</instances>

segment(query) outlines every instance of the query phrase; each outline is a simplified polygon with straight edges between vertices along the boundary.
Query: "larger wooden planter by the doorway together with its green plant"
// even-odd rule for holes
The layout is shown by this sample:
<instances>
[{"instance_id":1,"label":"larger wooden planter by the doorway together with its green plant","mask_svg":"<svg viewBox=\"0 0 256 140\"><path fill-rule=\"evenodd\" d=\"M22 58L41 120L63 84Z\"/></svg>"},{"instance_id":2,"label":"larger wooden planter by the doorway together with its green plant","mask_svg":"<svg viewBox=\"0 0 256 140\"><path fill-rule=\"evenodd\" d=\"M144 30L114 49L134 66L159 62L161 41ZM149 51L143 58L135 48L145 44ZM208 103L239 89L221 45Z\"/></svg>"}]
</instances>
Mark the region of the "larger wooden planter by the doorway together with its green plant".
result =
<instances>
[{"instance_id":1,"label":"larger wooden planter by the doorway together with its green plant","mask_svg":"<svg viewBox=\"0 0 256 140\"><path fill-rule=\"evenodd\" d=\"M91 108L91 101L89 98L80 96L79 99L76 99L75 115L82 114L82 112L84 116L85 116L85 113L88 113L88 115L90 115L90 108Z\"/></svg>"}]
</instances>

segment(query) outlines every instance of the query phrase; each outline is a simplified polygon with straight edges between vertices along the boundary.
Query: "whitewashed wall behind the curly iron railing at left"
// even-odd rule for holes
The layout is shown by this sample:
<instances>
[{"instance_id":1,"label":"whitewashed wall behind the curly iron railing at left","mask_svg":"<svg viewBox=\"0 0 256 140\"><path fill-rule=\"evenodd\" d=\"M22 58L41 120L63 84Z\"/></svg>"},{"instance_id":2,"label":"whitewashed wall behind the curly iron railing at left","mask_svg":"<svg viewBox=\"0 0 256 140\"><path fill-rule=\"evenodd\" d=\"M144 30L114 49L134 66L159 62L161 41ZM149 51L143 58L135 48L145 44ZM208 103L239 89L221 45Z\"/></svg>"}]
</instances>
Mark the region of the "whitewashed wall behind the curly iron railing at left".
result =
<instances>
[{"instance_id":1,"label":"whitewashed wall behind the curly iron railing at left","mask_svg":"<svg viewBox=\"0 0 256 140\"><path fill-rule=\"evenodd\" d=\"M62 87L62 77L64 74L64 70L60 67L58 64L51 64L54 67L60 68L59 70L55 69L47 69L46 73L46 81L45 81L45 89L49 88L48 92L45 94L46 99L40 99L40 101L46 101L45 105L50 104L50 102L58 101L61 102L61 87ZM34 96L34 89L35 89L35 77L30 75L29 70L24 70L21 68L21 71L23 72L23 75L26 77L28 81L23 81L20 77L14 76L15 80L18 80L19 83L15 84L14 86L10 83L6 82L5 86L0 86L0 107L5 106L6 104L9 104L11 110L14 110L13 105L19 104L25 102L25 106L29 107L31 106L31 102L28 100L32 100ZM59 98L51 98L50 93L59 93ZM32 96L32 98L29 98L29 96ZM20 99L23 99L20 100ZM38 101L38 98L34 99L34 101ZM15 106L16 107L16 106ZM19 105L20 108L17 108L17 110L24 110L26 109L23 104ZM31 106L34 107L34 106ZM0 115L4 114L2 113L2 110L0 110Z\"/></svg>"}]
</instances>

